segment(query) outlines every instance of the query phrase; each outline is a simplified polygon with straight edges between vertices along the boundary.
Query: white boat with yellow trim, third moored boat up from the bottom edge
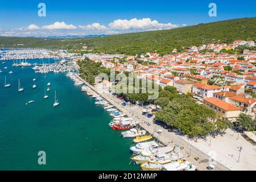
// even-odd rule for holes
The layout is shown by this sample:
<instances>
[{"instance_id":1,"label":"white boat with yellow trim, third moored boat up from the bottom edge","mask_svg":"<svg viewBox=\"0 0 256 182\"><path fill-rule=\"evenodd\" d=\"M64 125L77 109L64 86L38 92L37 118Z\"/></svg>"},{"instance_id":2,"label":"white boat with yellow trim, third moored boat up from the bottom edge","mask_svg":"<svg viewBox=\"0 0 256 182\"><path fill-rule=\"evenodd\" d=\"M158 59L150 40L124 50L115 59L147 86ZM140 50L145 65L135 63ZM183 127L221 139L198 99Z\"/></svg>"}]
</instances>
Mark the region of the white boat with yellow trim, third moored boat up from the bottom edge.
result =
<instances>
[{"instance_id":1,"label":"white boat with yellow trim, third moored boat up from the bottom edge","mask_svg":"<svg viewBox=\"0 0 256 182\"><path fill-rule=\"evenodd\" d=\"M134 160L137 164L147 163L153 156L160 155L160 154L168 154L172 152L174 148L167 146L161 148L147 148L147 150L141 151L141 154L132 157L131 159Z\"/></svg>"}]
</instances>

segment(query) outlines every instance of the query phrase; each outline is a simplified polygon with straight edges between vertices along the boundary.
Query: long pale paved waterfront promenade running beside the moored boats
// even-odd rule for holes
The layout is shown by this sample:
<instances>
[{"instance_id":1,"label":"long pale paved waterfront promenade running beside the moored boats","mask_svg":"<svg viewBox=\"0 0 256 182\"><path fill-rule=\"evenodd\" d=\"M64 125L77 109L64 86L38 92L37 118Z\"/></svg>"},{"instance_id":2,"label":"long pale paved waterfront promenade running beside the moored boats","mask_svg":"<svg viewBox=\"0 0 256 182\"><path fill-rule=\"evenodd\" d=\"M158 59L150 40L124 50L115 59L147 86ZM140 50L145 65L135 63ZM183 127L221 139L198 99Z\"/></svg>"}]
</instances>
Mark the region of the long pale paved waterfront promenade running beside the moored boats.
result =
<instances>
[{"instance_id":1,"label":"long pale paved waterfront promenade running beside the moored boats","mask_svg":"<svg viewBox=\"0 0 256 182\"><path fill-rule=\"evenodd\" d=\"M100 94L106 101L110 102L110 104L114 105L118 110L122 111L122 113L126 114L128 117L133 118L135 121L139 121L139 126L141 126L148 133L153 135L159 142L174 146L175 144L181 148L181 154L184 159L192 162L196 165L197 169L200 171L207 171L207 167L209 166L209 161L212 161L210 156L206 154L204 151L201 151L199 148L196 148L192 144L185 141L183 138L179 137L174 133L169 132L166 129L163 129L161 126L157 126L154 124L154 118L146 118L142 115L143 107L139 106L122 106L122 101L118 98L114 97L111 93L101 93L98 92L95 86L88 84L85 80L83 80L79 75L75 74L77 78L79 78L82 82L88 85L95 92ZM162 134L158 134L156 131L162 130ZM195 160L194 158L198 157L199 160ZM229 171L230 169L220 162L214 162L215 168L213 171Z\"/></svg>"}]
</instances>

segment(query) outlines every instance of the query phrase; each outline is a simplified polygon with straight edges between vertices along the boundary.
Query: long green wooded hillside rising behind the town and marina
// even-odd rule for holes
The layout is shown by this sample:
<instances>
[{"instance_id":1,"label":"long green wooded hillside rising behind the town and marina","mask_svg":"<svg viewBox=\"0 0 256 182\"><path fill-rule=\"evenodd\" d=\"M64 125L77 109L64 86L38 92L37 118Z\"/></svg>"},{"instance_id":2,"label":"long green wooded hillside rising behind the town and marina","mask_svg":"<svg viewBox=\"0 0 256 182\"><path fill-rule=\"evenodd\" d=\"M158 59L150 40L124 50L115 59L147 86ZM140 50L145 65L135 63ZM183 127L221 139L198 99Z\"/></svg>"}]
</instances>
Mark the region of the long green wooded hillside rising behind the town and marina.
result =
<instances>
[{"instance_id":1,"label":"long green wooded hillside rising behind the town and marina","mask_svg":"<svg viewBox=\"0 0 256 182\"><path fill-rule=\"evenodd\" d=\"M233 40L256 39L256 17L197 24L172 30L138 32L79 39L0 38L0 47L38 47L77 49L83 45L93 52L105 53L170 53L202 43L232 43ZM17 44L24 44L17 46Z\"/></svg>"}]
</instances>

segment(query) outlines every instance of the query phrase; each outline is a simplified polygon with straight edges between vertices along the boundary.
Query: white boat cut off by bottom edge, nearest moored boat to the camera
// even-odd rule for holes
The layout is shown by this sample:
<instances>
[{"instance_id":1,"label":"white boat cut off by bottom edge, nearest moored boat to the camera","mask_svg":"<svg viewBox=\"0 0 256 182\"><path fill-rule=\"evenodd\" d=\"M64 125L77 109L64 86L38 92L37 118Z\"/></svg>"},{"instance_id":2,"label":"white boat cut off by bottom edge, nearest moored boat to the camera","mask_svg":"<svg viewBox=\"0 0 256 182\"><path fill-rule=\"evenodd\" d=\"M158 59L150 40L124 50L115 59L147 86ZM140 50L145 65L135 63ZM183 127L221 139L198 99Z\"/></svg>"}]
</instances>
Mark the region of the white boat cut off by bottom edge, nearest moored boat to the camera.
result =
<instances>
[{"instance_id":1,"label":"white boat cut off by bottom edge, nearest moored boat to the camera","mask_svg":"<svg viewBox=\"0 0 256 182\"><path fill-rule=\"evenodd\" d=\"M196 166L186 160L163 165L163 171L196 171Z\"/></svg>"}]
</instances>

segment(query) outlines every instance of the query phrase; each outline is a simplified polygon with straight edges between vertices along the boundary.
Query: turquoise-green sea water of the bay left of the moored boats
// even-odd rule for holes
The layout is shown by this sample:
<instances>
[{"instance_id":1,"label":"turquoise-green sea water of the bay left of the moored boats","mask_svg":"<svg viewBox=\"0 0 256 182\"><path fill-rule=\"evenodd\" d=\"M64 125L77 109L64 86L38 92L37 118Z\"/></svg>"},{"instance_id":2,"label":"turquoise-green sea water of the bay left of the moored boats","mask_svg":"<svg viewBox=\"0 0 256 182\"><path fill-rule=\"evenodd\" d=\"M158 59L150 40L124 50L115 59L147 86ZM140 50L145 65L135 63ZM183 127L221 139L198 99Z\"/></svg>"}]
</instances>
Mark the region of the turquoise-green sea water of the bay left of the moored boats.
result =
<instances>
[{"instance_id":1,"label":"turquoise-green sea water of the bay left of the moored boats","mask_svg":"<svg viewBox=\"0 0 256 182\"><path fill-rule=\"evenodd\" d=\"M30 61L34 62L40 60ZM73 86L64 73L47 73L44 78L31 68L12 68L12 63L0 63L1 170L139 169L129 165L132 139L123 139L121 132L108 126L109 113L82 93L81 87ZM14 73L10 75L10 71ZM5 75L10 88L4 88ZM18 78L22 93L18 92ZM51 91L44 100L48 82ZM55 89L60 106L53 108ZM35 102L26 106L31 100ZM46 152L46 166L38 164L39 151Z\"/></svg>"}]
</instances>

